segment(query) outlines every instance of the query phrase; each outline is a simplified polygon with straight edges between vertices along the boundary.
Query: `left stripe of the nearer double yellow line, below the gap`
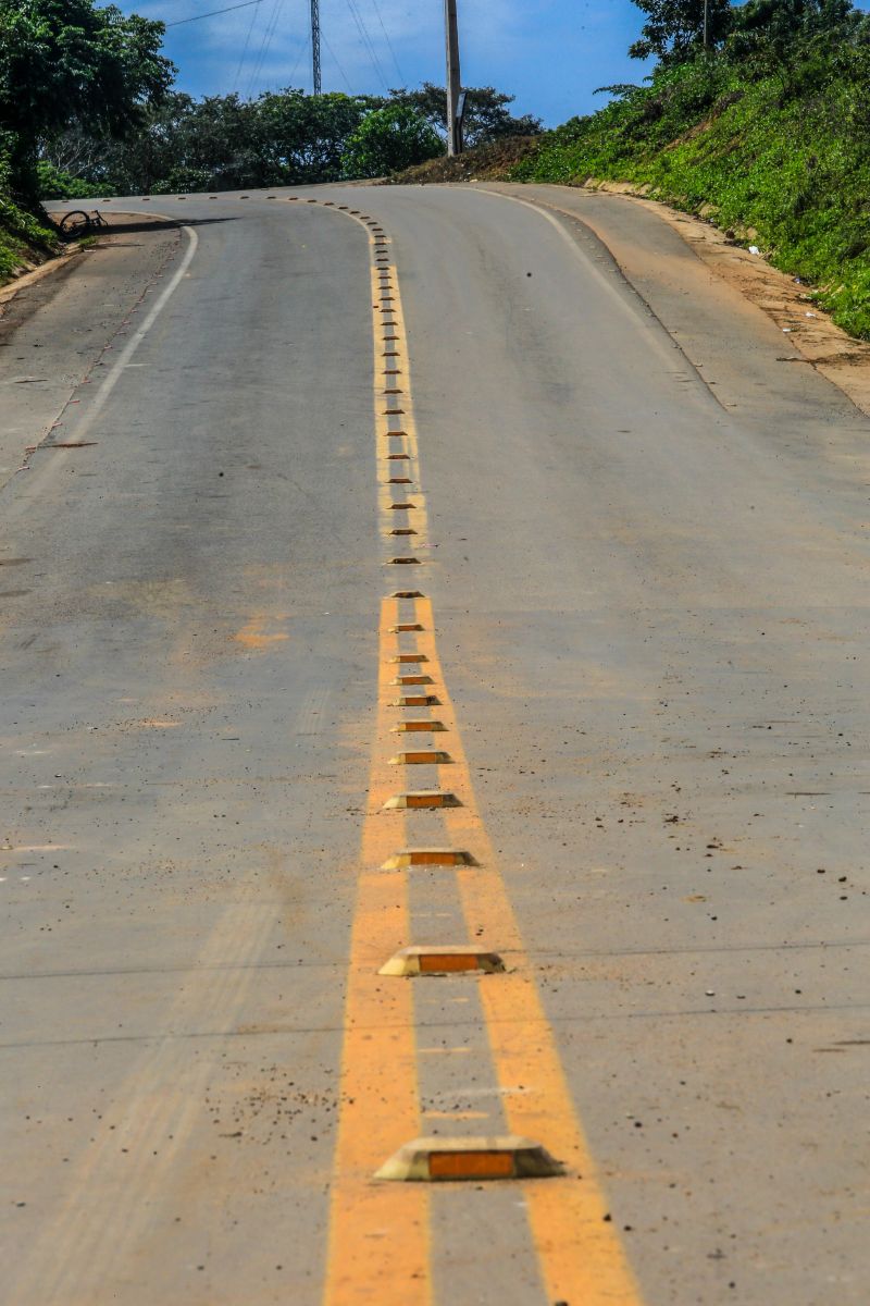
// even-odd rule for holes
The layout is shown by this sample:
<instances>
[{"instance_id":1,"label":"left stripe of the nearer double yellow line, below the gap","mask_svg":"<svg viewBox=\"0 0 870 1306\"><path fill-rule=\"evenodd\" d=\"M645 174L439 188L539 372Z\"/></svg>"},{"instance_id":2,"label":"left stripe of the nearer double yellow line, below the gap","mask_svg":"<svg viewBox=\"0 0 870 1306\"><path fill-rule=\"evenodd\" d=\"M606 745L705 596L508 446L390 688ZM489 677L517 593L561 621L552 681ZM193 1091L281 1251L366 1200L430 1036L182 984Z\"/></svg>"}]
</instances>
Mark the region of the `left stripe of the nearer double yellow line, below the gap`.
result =
<instances>
[{"instance_id":1,"label":"left stripe of the nearer double yellow line, below the gap","mask_svg":"<svg viewBox=\"0 0 870 1306\"><path fill-rule=\"evenodd\" d=\"M386 761L387 657L397 641L390 626L398 609L398 599L385 599L381 610L378 712L344 1006L325 1306L398 1303L407 1299L410 1285L415 1302L432 1301L427 1191L373 1179L383 1158L420 1132L412 989L378 976L383 957L404 947L410 932L407 871L378 870L404 832L403 812L387 819L380 812L395 781Z\"/></svg>"}]
</instances>

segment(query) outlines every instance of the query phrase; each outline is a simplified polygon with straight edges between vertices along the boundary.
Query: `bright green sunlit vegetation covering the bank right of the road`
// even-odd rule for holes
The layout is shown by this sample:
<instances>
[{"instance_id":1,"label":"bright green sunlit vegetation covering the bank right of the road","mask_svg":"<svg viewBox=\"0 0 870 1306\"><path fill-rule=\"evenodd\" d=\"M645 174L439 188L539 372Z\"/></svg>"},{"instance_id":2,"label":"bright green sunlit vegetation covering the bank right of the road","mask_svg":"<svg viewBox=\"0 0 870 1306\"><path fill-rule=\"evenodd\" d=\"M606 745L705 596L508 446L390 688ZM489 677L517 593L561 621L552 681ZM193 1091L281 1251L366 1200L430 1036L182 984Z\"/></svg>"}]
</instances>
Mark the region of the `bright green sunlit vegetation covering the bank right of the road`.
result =
<instances>
[{"instance_id":1,"label":"bright green sunlit vegetation covering the bank right of the road","mask_svg":"<svg viewBox=\"0 0 870 1306\"><path fill-rule=\"evenodd\" d=\"M870 338L870 18L845 0L750 0L650 85L618 88L514 175L648 188L762 247Z\"/></svg>"}]
</instances>

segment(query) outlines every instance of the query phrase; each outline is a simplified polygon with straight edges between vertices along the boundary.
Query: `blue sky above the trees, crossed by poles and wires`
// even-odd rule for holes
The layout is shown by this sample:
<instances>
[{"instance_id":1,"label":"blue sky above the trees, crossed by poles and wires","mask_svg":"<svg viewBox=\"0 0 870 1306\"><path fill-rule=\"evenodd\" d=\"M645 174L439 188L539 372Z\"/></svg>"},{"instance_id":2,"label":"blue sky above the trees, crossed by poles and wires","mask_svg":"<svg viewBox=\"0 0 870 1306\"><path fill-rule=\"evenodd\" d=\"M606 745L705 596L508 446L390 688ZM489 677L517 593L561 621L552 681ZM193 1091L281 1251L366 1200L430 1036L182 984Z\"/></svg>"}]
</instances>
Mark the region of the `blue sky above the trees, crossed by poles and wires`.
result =
<instances>
[{"instance_id":1,"label":"blue sky above the trees, crossed by poles and wires","mask_svg":"<svg viewBox=\"0 0 870 1306\"><path fill-rule=\"evenodd\" d=\"M124 0L120 7L168 24L232 3ZM537 114L549 127L601 104L596 86L643 77L643 65L626 55L643 21L631 0L458 0L458 7L463 82L517 95L517 112ZM442 0L321 0L323 90L443 82L442 13ZM166 52L177 64L179 88L193 95L310 90L308 26L308 0L260 0L170 27Z\"/></svg>"}]
</instances>

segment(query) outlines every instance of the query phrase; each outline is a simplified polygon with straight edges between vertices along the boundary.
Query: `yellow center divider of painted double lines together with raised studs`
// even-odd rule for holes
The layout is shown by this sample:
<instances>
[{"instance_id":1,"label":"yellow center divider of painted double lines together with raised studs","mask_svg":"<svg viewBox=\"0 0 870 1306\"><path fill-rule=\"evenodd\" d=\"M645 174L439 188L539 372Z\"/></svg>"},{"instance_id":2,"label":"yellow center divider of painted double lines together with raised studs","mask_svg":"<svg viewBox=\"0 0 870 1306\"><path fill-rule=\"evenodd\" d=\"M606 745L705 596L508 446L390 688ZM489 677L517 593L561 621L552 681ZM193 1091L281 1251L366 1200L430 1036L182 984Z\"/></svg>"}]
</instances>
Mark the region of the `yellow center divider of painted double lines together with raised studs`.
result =
<instances>
[{"instance_id":1,"label":"yellow center divider of painted double lines together with raised studs","mask_svg":"<svg viewBox=\"0 0 870 1306\"><path fill-rule=\"evenodd\" d=\"M420 488L407 337L399 278L390 261L391 242L381 227L376 234L372 219L360 210L347 213L363 222L372 251L380 535L390 537L394 512L412 512L423 549L427 502ZM383 385L385 358L395 360L389 364L397 368L393 375L402 370L400 387ZM391 390L400 393L400 400ZM399 461L408 471L407 483L415 485L413 502L393 499L389 470ZM385 556L382 562L420 565L415 556ZM427 1194L433 1182L462 1181L523 1185L544 1284L539 1306L547 1301L639 1306L639 1290L597 1182L556 1037L477 808L429 598L421 590L395 590L382 601L378 629L378 712L351 935L325 1306L373 1301L403 1306L410 1298L415 1306L430 1306ZM437 690L438 718L403 717L397 726L397 707L428 707L420 699L429 696L400 696L397 701L394 687L428 684ZM390 756L390 735L397 730L447 731L451 752L421 748ZM450 765L450 794L410 789L397 794L393 768L412 765ZM403 846L415 808L429 807L442 808L447 846ZM411 942L408 878L416 867L443 870L445 883L457 887L468 939L484 935L497 940L498 952L489 944L462 940L438 947ZM502 951L511 956L510 970L501 961ZM477 991L497 1085L527 1087L523 1093L502 1094L510 1135L420 1136L417 1057L445 1049L416 1049L413 985L400 981L451 973L481 977ZM535 1306L531 1299L530 1306Z\"/></svg>"}]
</instances>

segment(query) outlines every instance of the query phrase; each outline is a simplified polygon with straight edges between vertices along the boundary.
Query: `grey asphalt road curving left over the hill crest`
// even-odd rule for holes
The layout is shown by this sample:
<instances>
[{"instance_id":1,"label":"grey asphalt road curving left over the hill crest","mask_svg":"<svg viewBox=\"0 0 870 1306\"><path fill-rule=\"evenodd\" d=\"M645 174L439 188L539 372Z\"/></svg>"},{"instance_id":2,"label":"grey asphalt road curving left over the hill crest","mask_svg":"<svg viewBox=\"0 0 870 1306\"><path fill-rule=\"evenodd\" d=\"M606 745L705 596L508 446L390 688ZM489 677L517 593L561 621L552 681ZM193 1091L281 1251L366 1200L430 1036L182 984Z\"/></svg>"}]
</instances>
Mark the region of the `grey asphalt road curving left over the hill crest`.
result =
<instances>
[{"instance_id":1,"label":"grey asphalt road curving left over the hill crest","mask_svg":"<svg viewBox=\"0 0 870 1306\"><path fill-rule=\"evenodd\" d=\"M863 1306L870 418L626 201L273 193L3 337L4 1302Z\"/></svg>"}]
</instances>

